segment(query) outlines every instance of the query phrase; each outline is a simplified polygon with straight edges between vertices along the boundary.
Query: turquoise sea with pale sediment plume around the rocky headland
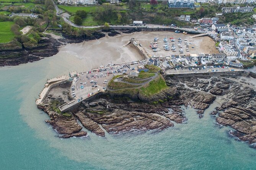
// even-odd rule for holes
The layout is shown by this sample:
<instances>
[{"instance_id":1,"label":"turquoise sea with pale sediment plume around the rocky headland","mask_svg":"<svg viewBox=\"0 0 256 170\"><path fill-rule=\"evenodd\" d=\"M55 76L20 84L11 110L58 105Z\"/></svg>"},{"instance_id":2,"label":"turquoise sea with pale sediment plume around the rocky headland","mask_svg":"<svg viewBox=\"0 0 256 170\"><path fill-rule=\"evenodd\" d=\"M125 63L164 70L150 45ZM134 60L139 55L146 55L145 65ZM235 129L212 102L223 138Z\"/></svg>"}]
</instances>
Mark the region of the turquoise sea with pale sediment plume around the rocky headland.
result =
<instances>
[{"instance_id":1,"label":"turquoise sea with pale sediment plume around the rocky headland","mask_svg":"<svg viewBox=\"0 0 256 170\"><path fill-rule=\"evenodd\" d=\"M185 109L187 123L161 132L56 137L34 99L47 78L83 69L71 59L0 68L0 169L256 169L256 149L230 137L209 115L217 103L202 119Z\"/></svg>"}]
</instances>

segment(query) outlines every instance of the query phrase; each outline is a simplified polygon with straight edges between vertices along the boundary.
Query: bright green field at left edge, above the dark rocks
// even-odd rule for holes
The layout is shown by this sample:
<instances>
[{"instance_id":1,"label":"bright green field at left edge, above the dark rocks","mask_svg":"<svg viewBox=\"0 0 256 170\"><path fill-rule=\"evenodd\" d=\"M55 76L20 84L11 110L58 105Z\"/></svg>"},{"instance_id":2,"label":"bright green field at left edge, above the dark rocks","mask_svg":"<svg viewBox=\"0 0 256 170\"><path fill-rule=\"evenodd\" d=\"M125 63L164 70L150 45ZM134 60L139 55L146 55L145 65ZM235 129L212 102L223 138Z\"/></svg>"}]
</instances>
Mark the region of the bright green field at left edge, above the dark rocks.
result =
<instances>
[{"instance_id":1,"label":"bright green field at left edge, above the dark rocks","mask_svg":"<svg viewBox=\"0 0 256 170\"><path fill-rule=\"evenodd\" d=\"M0 22L0 43L6 43L13 40L15 37L14 33L11 32L11 26L14 22L6 21Z\"/></svg>"}]
</instances>

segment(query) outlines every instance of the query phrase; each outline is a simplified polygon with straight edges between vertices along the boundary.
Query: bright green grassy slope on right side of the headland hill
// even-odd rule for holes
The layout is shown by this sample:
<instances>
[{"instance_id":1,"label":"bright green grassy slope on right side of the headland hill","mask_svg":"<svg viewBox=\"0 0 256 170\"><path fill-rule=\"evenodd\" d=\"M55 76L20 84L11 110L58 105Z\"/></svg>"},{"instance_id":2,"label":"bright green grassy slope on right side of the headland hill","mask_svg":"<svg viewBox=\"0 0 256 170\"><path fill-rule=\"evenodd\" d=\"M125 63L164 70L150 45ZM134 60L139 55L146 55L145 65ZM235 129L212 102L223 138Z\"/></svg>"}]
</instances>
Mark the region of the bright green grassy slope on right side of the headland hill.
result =
<instances>
[{"instance_id":1,"label":"bright green grassy slope on right side of the headland hill","mask_svg":"<svg viewBox=\"0 0 256 170\"><path fill-rule=\"evenodd\" d=\"M139 92L145 96L152 96L159 93L161 90L168 88L163 77L159 76L155 80L148 83L146 87L140 88Z\"/></svg>"}]
</instances>

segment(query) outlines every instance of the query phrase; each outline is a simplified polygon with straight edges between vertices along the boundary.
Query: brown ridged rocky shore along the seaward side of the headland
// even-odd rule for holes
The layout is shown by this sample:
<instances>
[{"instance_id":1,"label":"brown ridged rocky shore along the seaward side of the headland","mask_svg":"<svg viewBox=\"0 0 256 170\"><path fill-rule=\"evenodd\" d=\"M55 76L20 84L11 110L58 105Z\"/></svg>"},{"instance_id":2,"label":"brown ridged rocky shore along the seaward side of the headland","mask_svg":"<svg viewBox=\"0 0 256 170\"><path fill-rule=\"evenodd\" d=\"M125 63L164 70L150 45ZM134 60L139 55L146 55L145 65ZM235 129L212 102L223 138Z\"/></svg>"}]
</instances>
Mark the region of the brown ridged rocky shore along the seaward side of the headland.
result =
<instances>
[{"instance_id":1,"label":"brown ridged rocky shore along the seaward side of the headland","mask_svg":"<svg viewBox=\"0 0 256 170\"><path fill-rule=\"evenodd\" d=\"M256 87L246 77L167 77L170 87L151 98L143 96L116 95L110 92L99 95L93 101L83 101L75 110L64 115L52 109L52 101L61 105L68 100L67 95L56 93L67 91L68 85L60 85L50 91L39 108L50 116L46 120L59 133L61 138L87 136L82 126L98 136L106 133L117 134L135 131L161 131L184 123L187 118L181 105L197 109L199 118L215 100L220 107L210 114L219 125L230 126L229 134L248 144L256 143ZM252 77L250 79L253 79ZM253 79L256 81L255 79ZM64 94L64 93L62 93ZM163 95L164 94L164 95ZM55 96L54 96L55 95ZM161 101L152 104L150 101ZM150 104L151 103L151 104ZM253 145L253 147L255 147Z\"/></svg>"}]
</instances>

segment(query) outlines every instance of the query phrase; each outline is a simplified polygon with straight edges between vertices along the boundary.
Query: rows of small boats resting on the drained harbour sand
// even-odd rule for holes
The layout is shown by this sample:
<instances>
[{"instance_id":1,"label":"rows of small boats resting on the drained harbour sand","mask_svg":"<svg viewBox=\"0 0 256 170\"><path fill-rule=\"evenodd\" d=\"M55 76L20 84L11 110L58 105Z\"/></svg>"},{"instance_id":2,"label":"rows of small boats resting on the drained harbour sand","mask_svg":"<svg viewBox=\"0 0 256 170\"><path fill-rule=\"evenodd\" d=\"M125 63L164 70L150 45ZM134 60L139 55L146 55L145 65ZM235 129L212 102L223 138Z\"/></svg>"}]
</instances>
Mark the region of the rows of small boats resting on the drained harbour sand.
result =
<instances>
[{"instance_id":1,"label":"rows of small boats resting on the drained harbour sand","mask_svg":"<svg viewBox=\"0 0 256 170\"><path fill-rule=\"evenodd\" d=\"M172 50L172 51L176 51L176 46L174 45L175 43L175 39L173 38L173 37L171 37L170 38L170 40L171 40L171 48L170 48L170 45L169 45L169 43L168 43L168 39L167 38L163 38L163 48L165 49L165 50ZM188 42L188 40L186 40L186 39L184 39L184 45L186 45L186 51L189 51L189 44L192 44L191 42L193 41L193 40L189 40L190 42ZM178 38L178 43L177 43L177 45L178 45L178 48L179 48L179 53L183 53L183 47L182 47L182 45L181 45L181 43L182 43L182 40L181 40L181 38ZM153 49L153 51L157 51L157 48L158 48L158 37L155 37L154 38L154 42L152 43L151 42L151 45L150 45L150 47ZM194 48L194 47L192 47L192 48Z\"/></svg>"}]
</instances>

